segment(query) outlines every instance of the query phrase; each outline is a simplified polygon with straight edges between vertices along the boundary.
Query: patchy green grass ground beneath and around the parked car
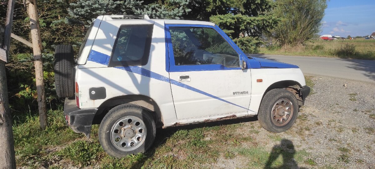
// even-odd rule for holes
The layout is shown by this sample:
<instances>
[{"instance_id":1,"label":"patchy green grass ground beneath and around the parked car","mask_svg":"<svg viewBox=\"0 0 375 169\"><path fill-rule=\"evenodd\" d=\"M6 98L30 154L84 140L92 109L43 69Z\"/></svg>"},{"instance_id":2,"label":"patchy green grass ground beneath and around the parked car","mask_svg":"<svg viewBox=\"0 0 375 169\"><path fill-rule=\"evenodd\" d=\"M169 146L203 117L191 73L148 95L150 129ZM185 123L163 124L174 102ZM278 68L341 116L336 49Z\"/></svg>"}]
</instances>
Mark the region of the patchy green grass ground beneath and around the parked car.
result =
<instances>
[{"instance_id":1,"label":"patchy green grass ground beneath and around the parked car","mask_svg":"<svg viewBox=\"0 0 375 169\"><path fill-rule=\"evenodd\" d=\"M276 145L272 152L266 151L256 139L259 131L254 125L237 123L158 129L155 142L148 152L118 159L109 156L100 146L99 125L93 125L91 138L87 140L83 134L76 134L65 125L62 110L49 111L48 120L46 130L39 129L37 115L29 115L13 126L18 167L211 168L219 159L249 158L247 167L254 168L264 166L269 158L277 155L275 161L269 162L271 166L292 165L284 163L283 157L295 158L298 163L303 163L308 156L306 151L294 149L291 142L282 147ZM248 130L249 134L237 133L243 130ZM275 144L283 142L276 134L270 136L269 140Z\"/></svg>"}]
</instances>

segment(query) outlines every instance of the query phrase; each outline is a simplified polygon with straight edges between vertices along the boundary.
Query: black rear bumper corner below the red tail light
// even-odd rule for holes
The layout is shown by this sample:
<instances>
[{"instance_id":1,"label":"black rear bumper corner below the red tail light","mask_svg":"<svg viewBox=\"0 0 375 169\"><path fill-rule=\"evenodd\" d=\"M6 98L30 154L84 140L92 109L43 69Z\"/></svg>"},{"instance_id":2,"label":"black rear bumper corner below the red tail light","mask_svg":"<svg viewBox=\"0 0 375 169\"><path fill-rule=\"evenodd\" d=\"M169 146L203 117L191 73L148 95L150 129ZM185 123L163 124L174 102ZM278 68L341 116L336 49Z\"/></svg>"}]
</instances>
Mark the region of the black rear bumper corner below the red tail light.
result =
<instances>
[{"instance_id":1,"label":"black rear bumper corner below the red tail light","mask_svg":"<svg viewBox=\"0 0 375 169\"><path fill-rule=\"evenodd\" d=\"M74 99L65 99L64 114L66 124L76 133L84 133L90 137L90 130L95 113L98 109L80 109Z\"/></svg>"}]
</instances>

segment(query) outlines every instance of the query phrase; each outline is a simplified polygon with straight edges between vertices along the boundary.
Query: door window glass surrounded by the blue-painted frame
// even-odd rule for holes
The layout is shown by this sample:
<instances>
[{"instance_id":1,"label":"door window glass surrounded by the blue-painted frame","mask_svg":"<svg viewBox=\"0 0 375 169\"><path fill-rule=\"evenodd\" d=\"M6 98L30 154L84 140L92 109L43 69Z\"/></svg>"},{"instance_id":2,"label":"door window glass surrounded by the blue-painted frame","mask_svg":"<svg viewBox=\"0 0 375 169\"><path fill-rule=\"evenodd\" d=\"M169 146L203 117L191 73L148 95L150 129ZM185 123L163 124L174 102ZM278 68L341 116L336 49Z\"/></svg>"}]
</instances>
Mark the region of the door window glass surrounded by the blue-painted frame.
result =
<instances>
[{"instance_id":1,"label":"door window glass surrounded by the blue-painted frame","mask_svg":"<svg viewBox=\"0 0 375 169\"><path fill-rule=\"evenodd\" d=\"M239 54L212 28L169 27L175 65L239 66Z\"/></svg>"}]
</instances>

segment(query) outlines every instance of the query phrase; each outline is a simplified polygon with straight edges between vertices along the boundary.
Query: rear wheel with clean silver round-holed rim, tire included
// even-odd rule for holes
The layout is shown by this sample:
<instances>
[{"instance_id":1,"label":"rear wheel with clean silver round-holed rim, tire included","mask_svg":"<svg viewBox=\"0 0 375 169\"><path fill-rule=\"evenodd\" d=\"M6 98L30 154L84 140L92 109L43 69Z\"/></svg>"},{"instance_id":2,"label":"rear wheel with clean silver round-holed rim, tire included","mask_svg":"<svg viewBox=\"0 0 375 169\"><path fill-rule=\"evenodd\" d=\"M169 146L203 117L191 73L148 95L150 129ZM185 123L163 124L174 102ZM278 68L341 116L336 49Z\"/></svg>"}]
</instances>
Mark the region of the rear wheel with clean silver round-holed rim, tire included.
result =
<instances>
[{"instance_id":1,"label":"rear wheel with clean silver round-holed rim, tire included","mask_svg":"<svg viewBox=\"0 0 375 169\"><path fill-rule=\"evenodd\" d=\"M147 151L155 134L155 122L149 112L134 104L114 107L99 127L99 141L104 151L117 158Z\"/></svg>"}]
</instances>

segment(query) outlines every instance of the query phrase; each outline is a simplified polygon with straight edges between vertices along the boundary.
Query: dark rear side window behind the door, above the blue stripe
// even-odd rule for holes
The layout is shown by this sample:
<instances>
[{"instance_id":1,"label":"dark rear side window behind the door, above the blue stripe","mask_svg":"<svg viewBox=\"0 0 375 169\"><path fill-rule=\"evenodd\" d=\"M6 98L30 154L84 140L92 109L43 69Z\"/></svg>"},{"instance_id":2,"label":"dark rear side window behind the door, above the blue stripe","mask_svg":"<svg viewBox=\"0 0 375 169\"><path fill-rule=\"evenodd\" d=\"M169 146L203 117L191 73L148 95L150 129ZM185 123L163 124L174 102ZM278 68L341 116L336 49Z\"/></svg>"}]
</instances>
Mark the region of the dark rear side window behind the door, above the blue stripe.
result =
<instances>
[{"instance_id":1,"label":"dark rear side window behind the door, above the blue stripe","mask_svg":"<svg viewBox=\"0 0 375 169\"><path fill-rule=\"evenodd\" d=\"M117 34L108 66L145 65L150 54L153 25L123 25Z\"/></svg>"}]
</instances>

